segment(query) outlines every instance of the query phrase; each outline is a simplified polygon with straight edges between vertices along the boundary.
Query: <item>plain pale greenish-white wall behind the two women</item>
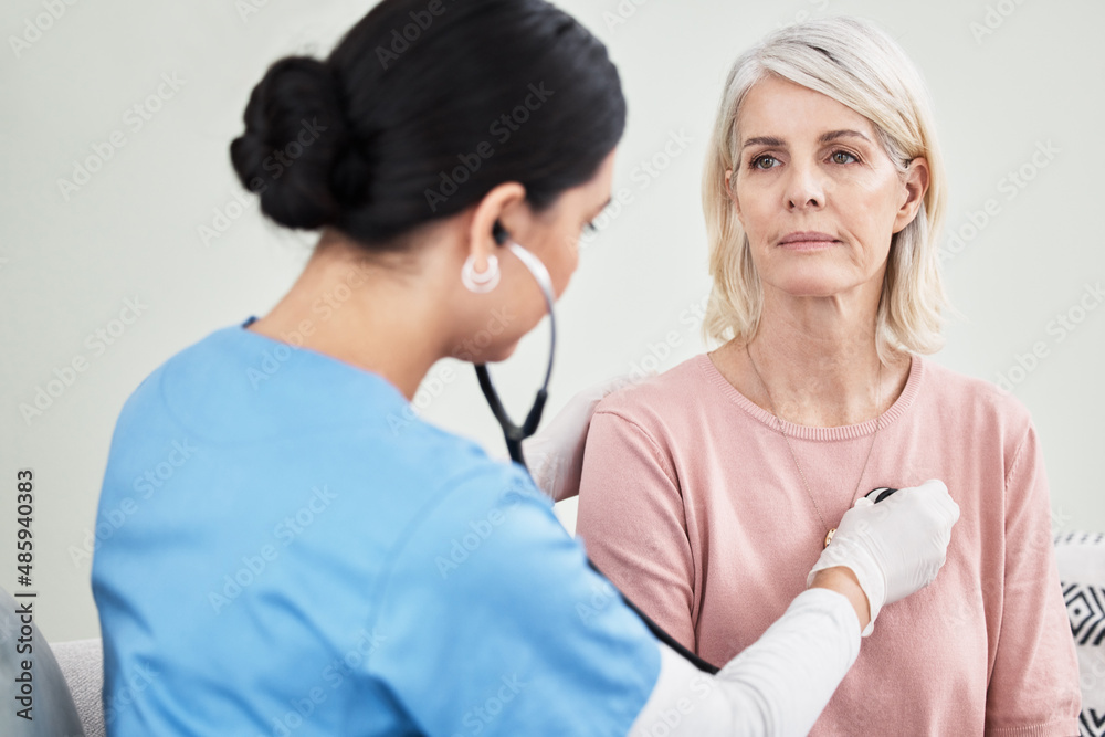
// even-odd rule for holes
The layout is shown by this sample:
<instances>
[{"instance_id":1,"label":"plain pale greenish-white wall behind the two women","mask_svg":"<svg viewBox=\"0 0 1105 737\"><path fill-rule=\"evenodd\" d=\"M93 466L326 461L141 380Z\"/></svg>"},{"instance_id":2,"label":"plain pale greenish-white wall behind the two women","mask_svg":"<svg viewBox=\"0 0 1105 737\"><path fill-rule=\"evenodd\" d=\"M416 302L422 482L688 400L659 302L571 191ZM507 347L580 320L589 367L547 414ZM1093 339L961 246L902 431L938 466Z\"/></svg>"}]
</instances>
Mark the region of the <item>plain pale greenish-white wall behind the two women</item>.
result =
<instances>
[{"instance_id":1,"label":"plain pale greenish-white wall behind the two women","mask_svg":"<svg viewBox=\"0 0 1105 737\"><path fill-rule=\"evenodd\" d=\"M124 400L173 352L251 314L265 314L313 244L263 222L252 200L244 212L235 204L240 188L228 146L241 130L250 90L281 55L325 54L370 4L6 0L0 11L0 586L20 588L15 473L33 468L33 589L40 592L38 622L49 639L99 634L87 550ZM559 304L560 354L547 417L576 390L628 372L650 356L664 370L704 350L687 310L708 288L698 181L725 74L740 51L780 24L859 14L899 40L936 101L951 179L948 232L962 234L961 243L948 246L946 275L964 315L951 324L948 346L936 360L964 373L993 381L1004 375L1017 382L1014 392L1043 439L1054 528L1105 530L1099 463L1105 308L1088 309L1099 298L1084 297L1087 285L1105 280L1105 235L1097 220L1105 194L1105 51L1098 36L1105 4L560 4L608 43L621 70L630 119L614 189L630 190L633 202L583 250L580 271ZM44 14L49 6L55 6L56 19ZM39 32L35 24L46 30ZM162 85L162 75L178 80L175 92ZM150 98L159 85L164 99ZM135 105L149 119L139 117ZM673 134L688 136L690 145L659 177L642 177L641 162L660 154ZM1033 159L1038 147L1048 145L1052 158ZM63 191L60 180L72 180L76 162L97 150L107 159L103 166L77 189ZM1022 187L1009 178L1018 171ZM978 213L991 199L994 214L983 222ZM230 227L204 243L198 229L213 227L217 212L231 217ZM113 327L128 298L146 306L141 316L109 346L88 341L96 330ZM1073 330L1059 327L1061 315ZM536 390L546 329L539 327L511 361L493 368L515 413L528 408ZM672 330L680 345L669 350ZM1019 369L1019 356L1033 347L1045 357L1034 364L1022 359L1031 369ZM74 373L52 406L24 418L20 406L33 404L55 369L82 358L85 370ZM471 368L460 368L450 383L424 385L425 417L505 454ZM573 507L558 510L572 526Z\"/></svg>"}]
</instances>

